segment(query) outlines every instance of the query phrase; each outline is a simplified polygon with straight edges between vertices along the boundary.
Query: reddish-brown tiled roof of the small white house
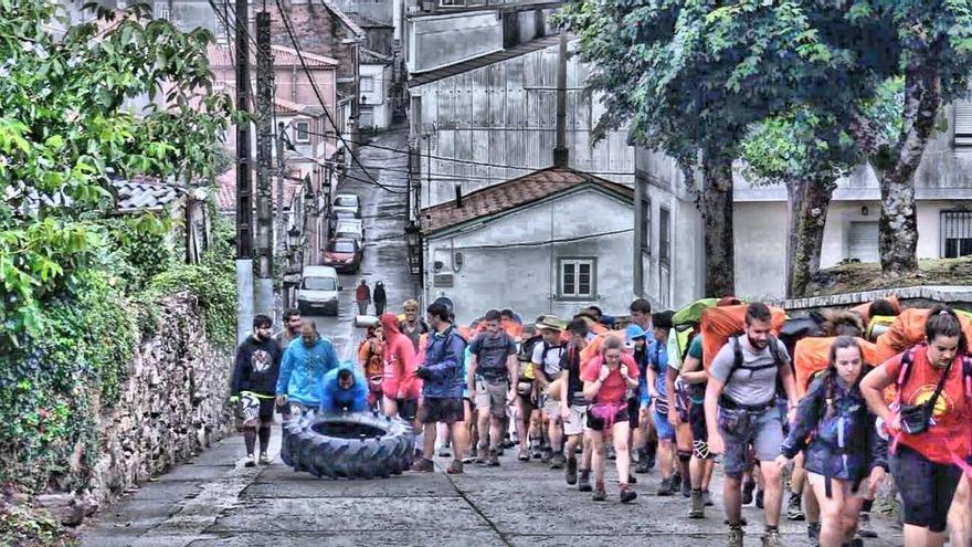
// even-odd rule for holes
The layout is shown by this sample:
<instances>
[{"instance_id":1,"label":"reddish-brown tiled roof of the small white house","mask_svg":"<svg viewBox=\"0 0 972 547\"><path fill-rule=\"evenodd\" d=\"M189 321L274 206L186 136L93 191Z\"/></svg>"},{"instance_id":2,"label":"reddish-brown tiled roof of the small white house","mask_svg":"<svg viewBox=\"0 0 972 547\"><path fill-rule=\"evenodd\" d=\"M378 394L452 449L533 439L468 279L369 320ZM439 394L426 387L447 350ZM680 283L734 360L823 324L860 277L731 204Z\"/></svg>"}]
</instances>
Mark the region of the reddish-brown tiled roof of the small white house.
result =
<instances>
[{"instance_id":1,"label":"reddish-brown tiled roof of the small white house","mask_svg":"<svg viewBox=\"0 0 972 547\"><path fill-rule=\"evenodd\" d=\"M447 201L422 210L422 232L431 233L463 222L529 206L583 185L634 200L634 189L570 168L549 167L463 196L463 207Z\"/></svg>"}]
</instances>

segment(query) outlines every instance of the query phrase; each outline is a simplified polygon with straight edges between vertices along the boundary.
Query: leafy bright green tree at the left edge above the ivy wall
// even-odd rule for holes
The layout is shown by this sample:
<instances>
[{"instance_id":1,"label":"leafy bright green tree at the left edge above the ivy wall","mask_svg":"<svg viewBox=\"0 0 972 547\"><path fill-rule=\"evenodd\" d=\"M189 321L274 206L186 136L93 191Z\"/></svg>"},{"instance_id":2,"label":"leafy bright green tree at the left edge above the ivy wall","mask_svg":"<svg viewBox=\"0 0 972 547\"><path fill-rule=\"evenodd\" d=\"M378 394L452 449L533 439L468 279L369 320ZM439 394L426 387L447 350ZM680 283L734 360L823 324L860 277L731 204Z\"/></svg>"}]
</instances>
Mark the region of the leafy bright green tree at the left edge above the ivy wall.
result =
<instances>
[{"instance_id":1,"label":"leafy bright green tree at the left edge above the ivy wall","mask_svg":"<svg viewBox=\"0 0 972 547\"><path fill-rule=\"evenodd\" d=\"M114 208L110 178L211 178L231 115L230 97L212 93L210 32L180 32L139 7L59 32L56 6L0 0L4 345L35 332L45 298L104 246L96 221Z\"/></svg>"}]
</instances>

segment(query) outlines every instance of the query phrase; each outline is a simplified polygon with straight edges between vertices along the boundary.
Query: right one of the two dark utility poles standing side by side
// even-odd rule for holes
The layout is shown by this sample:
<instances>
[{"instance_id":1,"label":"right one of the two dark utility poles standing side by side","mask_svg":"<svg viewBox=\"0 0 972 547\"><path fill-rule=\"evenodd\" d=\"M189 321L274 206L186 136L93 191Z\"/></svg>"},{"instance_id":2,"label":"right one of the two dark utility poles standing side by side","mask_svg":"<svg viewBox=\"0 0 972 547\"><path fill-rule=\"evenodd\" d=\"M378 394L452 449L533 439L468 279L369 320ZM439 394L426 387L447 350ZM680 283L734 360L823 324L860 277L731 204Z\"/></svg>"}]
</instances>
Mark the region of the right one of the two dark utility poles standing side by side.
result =
<instances>
[{"instance_id":1,"label":"right one of the two dark utility poles standing side by side","mask_svg":"<svg viewBox=\"0 0 972 547\"><path fill-rule=\"evenodd\" d=\"M273 317L273 53L270 13L256 14L256 312Z\"/></svg>"}]
</instances>

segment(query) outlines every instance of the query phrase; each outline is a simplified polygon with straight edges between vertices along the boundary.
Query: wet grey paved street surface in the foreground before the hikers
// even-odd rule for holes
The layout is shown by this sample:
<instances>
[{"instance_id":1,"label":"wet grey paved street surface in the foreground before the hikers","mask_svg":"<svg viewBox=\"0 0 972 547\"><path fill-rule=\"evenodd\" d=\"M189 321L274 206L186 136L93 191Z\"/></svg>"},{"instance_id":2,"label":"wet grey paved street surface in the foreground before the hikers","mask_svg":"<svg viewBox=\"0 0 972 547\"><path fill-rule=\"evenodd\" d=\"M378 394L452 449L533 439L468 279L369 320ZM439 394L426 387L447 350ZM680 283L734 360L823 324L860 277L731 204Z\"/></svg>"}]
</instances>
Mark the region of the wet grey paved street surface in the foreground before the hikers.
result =
<instances>
[{"instance_id":1,"label":"wet grey paved street surface in the foreground before the hikers","mask_svg":"<svg viewBox=\"0 0 972 547\"><path fill-rule=\"evenodd\" d=\"M278 451L274 429L272 453ZM503 466L466 465L466 474L406 473L387 480L330 481L295 473L275 459L268 466L234 465L243 453L231 438L145 484L88 525L83 545L92 547L241 546L329 547L389 546L722 546L720 497L704 520L684 517L687 499L655 497L657 472L638 475L642 497L617 503L609 474L609 502L567 486L562 472L539 462L521 463L507 451ZM613 462L609 462L613 463ZM609 469L610 472L610 469ZM716 484L716 490L719 485ZM747 546L760 545L761 512L743 509L750 524ZM869 547L900 545L887 520L876 520L881 535ZM810 546L805 523L782 525L784 545Z\"/></svg>"}]
</instances>

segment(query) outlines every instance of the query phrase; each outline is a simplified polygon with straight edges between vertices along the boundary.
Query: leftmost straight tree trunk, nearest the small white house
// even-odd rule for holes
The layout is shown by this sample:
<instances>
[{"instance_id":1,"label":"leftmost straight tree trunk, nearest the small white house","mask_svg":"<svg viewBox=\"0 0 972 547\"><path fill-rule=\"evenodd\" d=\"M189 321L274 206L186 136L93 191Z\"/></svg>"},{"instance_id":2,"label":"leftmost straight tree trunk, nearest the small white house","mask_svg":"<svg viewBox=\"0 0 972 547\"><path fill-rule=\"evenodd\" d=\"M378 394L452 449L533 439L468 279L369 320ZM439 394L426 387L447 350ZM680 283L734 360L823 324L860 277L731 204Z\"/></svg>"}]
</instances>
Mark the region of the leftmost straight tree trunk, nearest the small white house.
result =
<instances>
[{"instance_id":1,"label":"leftmost straight tree trunk, nearest the small white house","mask_svg":"<svg viewBox=\"0 0 972 547\"><path fill-rule=\"evenodd\" d=\"M705 190L699 211L705 227L706 296L736 294L736 252L732 238L732 158L706 154Z\"/></svg>"}]
</instances>

